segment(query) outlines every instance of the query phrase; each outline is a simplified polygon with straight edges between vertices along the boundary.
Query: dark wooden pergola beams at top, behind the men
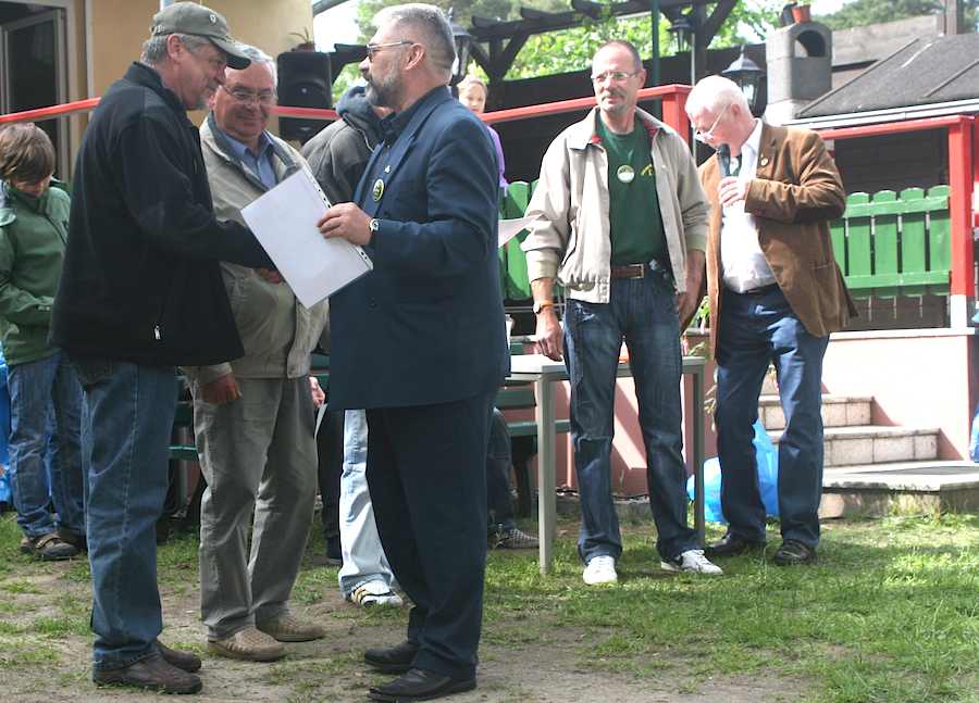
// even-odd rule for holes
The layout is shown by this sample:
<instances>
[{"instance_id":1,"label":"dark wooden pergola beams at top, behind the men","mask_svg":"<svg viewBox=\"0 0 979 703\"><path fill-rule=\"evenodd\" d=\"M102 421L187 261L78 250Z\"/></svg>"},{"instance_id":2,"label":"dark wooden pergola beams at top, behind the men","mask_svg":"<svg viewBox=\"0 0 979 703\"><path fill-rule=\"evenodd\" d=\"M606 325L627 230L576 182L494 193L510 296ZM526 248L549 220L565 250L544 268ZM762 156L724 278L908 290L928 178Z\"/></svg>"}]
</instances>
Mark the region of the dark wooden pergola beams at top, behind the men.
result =
<instances>
[{"instance_id":1,"label":"dark wooden pergola beams at top, behind the men","mask_svg":"<svg viewBox=\"0 0 979 703\"><path fill-rule=\"evenodd\" d=\"M313 14L325 12L345 0L320 0L313 3ZM699 77L706 65L706 51L721 25L731 14L738 0L629 0L628 2L600 3L592 0L570 0L565 12L543 12L520 8L519 20L472 17L468 29L472 38L471 55L490 77L490 83L501 81L512 67L517 54L533 35L559 32L581 26L588 21L649 13L653 29L650 47L649 84L659 84L659 17L666 16L671 30L691 48L691 83ZM712 5L712 7L710 7ZM709 12L708 12L709 8ZM643 51L643 47L640 47ZM333 75L355 61L363 59L364 49L354 45L337 45L333 53Z\"/></svg>"}]
</instances>

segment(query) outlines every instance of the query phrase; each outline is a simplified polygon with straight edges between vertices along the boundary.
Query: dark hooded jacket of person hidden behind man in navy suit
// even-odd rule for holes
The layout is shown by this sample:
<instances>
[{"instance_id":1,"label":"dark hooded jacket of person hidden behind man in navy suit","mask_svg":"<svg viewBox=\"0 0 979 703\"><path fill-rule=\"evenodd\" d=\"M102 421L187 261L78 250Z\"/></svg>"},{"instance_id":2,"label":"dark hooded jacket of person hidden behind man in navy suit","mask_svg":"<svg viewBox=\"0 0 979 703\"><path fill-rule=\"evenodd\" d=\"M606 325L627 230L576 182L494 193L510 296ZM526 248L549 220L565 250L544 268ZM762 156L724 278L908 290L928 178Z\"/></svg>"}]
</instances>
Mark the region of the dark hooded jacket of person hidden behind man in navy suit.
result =
<instances>
[{"instance_id":1,"label":"dark hooded jacket of person hidden behind man in navy suit","mask_svg":"<svg viewBox=\"0 0 979 703\"><path fill-rule=\"evenodd\" d=\"M345 92L336 112L340 118L302 147L302 155L332 203L354 200L371 152L381 141L381 118L364 97L363 86Z\"/></svg>"}]
</instances>

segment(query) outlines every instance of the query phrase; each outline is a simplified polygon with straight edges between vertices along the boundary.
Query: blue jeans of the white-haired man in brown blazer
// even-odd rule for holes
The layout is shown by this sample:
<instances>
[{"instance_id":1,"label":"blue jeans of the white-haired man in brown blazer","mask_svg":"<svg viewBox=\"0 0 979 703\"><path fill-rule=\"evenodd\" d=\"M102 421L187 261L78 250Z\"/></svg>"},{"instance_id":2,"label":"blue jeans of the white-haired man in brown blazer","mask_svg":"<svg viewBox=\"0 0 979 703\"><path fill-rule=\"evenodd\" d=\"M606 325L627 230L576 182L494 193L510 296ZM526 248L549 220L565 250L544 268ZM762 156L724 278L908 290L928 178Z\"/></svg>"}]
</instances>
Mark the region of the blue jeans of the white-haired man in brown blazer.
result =
<instances>
[{"instance_id":1,"label":"blue jeans of the white-haired man in brown blazer","mask_svg":"<svg viewBox=\"0 0 979 703\"><path fill-rule=\"evenodd\" d=\"M723 291L717 346L717 452L721 510L732 535L765 539L752 425L773 362L785 413L779 442L779 516L782 538L815 548L822 493L822 356L828 337L814 337L778 288L764 293Z\"/></svg>"}]
</instances>

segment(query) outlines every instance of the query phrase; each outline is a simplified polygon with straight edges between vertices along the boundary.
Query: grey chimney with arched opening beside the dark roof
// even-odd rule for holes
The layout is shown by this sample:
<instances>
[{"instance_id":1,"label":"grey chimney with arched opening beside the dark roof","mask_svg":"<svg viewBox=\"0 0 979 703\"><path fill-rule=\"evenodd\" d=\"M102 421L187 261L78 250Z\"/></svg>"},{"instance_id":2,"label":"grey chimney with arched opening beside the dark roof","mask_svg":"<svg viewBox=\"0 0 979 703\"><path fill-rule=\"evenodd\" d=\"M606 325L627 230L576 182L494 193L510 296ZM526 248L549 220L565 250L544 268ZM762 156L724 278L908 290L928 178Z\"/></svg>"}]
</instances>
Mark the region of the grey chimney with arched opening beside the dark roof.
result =
<instances>
[{"instance_id":1,"label":"grey chimney with arched opening beside the dark roof","mask_svg":"<svg viewBox=\"0 0 979 703\"><path fill-rule=\"evenodd\" d=\"M810 101L832 88L833 34L818 22L773 29L765 42L768 108L771 124L792 120Z\"/></svg>"}]
</instances>

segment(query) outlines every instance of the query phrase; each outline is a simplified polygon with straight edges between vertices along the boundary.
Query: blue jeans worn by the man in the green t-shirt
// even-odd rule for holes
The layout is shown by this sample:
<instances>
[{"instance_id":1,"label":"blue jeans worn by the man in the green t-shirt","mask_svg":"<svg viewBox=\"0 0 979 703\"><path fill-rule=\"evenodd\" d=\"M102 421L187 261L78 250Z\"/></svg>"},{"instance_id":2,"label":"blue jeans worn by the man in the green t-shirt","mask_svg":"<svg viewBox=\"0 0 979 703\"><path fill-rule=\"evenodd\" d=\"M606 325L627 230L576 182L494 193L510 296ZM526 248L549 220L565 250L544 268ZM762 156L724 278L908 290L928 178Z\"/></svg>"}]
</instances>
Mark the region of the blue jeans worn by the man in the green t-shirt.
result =
<instances>
[{"instance_id":1,"label":"blue jeans worn by the man in the green t-shirt","mask_svg":"<svg viewBox=\"0 0 979 703\"><path fill-rule=\"evenodd\" d=\"M622 340L635 379L639 418L646 448L649 506L656 549L674 558L697 548L686 525L686 467L683 464L680 335L672 279L661 268L643 278L614 278L609 302L568 301L565 360L571 379L571 442L581 493L578 552L622 553L611 497L616 369Z\"/></svg>"}]
</instances>

